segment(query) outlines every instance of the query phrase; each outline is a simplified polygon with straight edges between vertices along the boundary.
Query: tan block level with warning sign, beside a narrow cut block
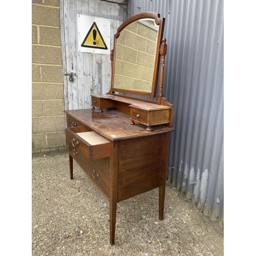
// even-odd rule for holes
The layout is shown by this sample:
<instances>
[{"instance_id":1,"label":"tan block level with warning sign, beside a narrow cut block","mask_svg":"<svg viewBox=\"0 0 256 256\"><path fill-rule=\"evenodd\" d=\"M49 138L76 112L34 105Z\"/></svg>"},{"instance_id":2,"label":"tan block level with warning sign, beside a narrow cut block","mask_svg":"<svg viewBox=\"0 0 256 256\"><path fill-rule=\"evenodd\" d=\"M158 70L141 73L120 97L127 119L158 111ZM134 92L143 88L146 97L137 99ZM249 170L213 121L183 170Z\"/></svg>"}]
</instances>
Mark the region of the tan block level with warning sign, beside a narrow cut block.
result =
<instances>
[{"instance_id":1,"label":"tan block level with warning sign, beside a narrow cut block","mask_svg":"<svg viewBox=\"0 0 256 256\"><path fill-rule=\"evenodd\" d=\"M60 29L52 27L39 27L39 44L61 46Z\"/></svg>"}]
</instances>

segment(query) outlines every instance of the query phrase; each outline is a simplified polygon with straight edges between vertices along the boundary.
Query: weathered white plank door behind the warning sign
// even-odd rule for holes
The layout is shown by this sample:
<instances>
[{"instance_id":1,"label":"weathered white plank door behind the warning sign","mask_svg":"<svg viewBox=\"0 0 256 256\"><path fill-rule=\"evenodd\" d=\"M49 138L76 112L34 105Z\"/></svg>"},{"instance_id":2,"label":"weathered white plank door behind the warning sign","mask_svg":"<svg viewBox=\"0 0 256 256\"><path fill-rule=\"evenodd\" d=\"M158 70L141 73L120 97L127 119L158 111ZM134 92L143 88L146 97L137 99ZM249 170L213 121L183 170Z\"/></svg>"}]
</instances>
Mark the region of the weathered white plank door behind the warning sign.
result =
<instances>
[{"instance_id":1,"label":"weathered white plank door behind the warning sign","mask_svg":"<svg viewBox=\"0 0 256 256\"><path fill-rule=\"evenodd\" d=\"M123 16L125 8L126 6L122 4L101 0L60 0L65 110L90 109L91 94L106 94L110 91L111 60L109 53L90 53L78 50L78 14L92 18L96 18L93 13L102 14L102 16ZM100 19L109 20L105 17ZM110 19L108 23L110 23L109 49L111 51L114 34L122 22ZM88 26L91 28L92 24ZM102 29L100 32L102 33ZM69 81L69 75L64 75L65 73L75 74L73 75L74 81Z\"/></svg>"}]
</instances>

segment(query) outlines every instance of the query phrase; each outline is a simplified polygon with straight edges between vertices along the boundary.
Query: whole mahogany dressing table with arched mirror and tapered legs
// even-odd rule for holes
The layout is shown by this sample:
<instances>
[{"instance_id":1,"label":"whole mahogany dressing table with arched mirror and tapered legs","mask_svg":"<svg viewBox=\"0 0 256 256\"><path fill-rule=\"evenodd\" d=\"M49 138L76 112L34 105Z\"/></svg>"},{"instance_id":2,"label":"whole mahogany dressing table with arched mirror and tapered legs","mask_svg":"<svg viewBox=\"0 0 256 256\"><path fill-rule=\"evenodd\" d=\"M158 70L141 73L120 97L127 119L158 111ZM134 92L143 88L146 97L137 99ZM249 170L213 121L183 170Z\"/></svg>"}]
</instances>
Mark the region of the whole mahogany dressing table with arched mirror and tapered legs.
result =
<instances>
[{"instance_id":1,"label":"whole mahogany dressing table with arched mirror and tapered legs","mask_svg":"<svg viewBox=\"0 0 256 256\"><path fill-rule=\"evenodd\" d=\"M163 219L169 133L174 105L163 97L164 18L145 12L127 19L114 36L111 90L91 95L92 109L66 113L70 178L73 159L110 203L110 244L117 203L159 188ZM140 44L136 44L140 42ZM160 66L157 101L155 97Z\"/></svg>"}]
</instances>

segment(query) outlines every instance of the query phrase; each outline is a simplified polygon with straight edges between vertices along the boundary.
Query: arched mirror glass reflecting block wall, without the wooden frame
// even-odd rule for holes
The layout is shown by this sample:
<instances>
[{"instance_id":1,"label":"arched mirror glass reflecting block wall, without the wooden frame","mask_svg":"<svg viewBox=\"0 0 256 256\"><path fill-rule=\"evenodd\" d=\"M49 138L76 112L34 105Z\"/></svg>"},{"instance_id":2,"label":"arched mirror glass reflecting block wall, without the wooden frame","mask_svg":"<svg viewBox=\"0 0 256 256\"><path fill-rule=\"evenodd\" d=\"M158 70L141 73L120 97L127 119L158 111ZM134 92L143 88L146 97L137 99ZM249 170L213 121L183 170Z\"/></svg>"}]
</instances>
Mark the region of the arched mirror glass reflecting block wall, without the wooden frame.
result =
<instances>
[{"instance_id":1,"label":"arched mirror glass reflecting block wall, without the wooden frame","mask_svg":"<svg viewBox=\"0 0 256 256\"><path fill-rule=\"evenodd\" d=\"M155 19L144 18L120 32L116 44L114 88L152 92L158 28Z\"/></svg>"}]
</instances>

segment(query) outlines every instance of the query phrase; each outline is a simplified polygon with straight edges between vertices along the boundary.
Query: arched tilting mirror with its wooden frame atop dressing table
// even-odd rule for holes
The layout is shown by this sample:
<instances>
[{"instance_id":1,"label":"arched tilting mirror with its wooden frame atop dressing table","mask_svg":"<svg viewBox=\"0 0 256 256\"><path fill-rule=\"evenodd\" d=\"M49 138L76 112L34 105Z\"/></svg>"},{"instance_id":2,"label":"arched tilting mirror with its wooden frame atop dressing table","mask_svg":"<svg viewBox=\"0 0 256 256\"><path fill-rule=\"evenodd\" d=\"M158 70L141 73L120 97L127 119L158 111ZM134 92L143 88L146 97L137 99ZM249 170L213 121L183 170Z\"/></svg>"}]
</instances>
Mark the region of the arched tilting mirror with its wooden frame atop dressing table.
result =
<instances>
[{"instance_id":1,"label":"arched tilting mirror with its wooden frame atop dressing table","mask_svg":"<svg viewBox=\"0 0 256 256\"><path fill-rule=\"evenodd\" d=\"M112 92L155 97L163 18L140 13L127 19L114 37Z\"/></svg>"}]
</instances>

